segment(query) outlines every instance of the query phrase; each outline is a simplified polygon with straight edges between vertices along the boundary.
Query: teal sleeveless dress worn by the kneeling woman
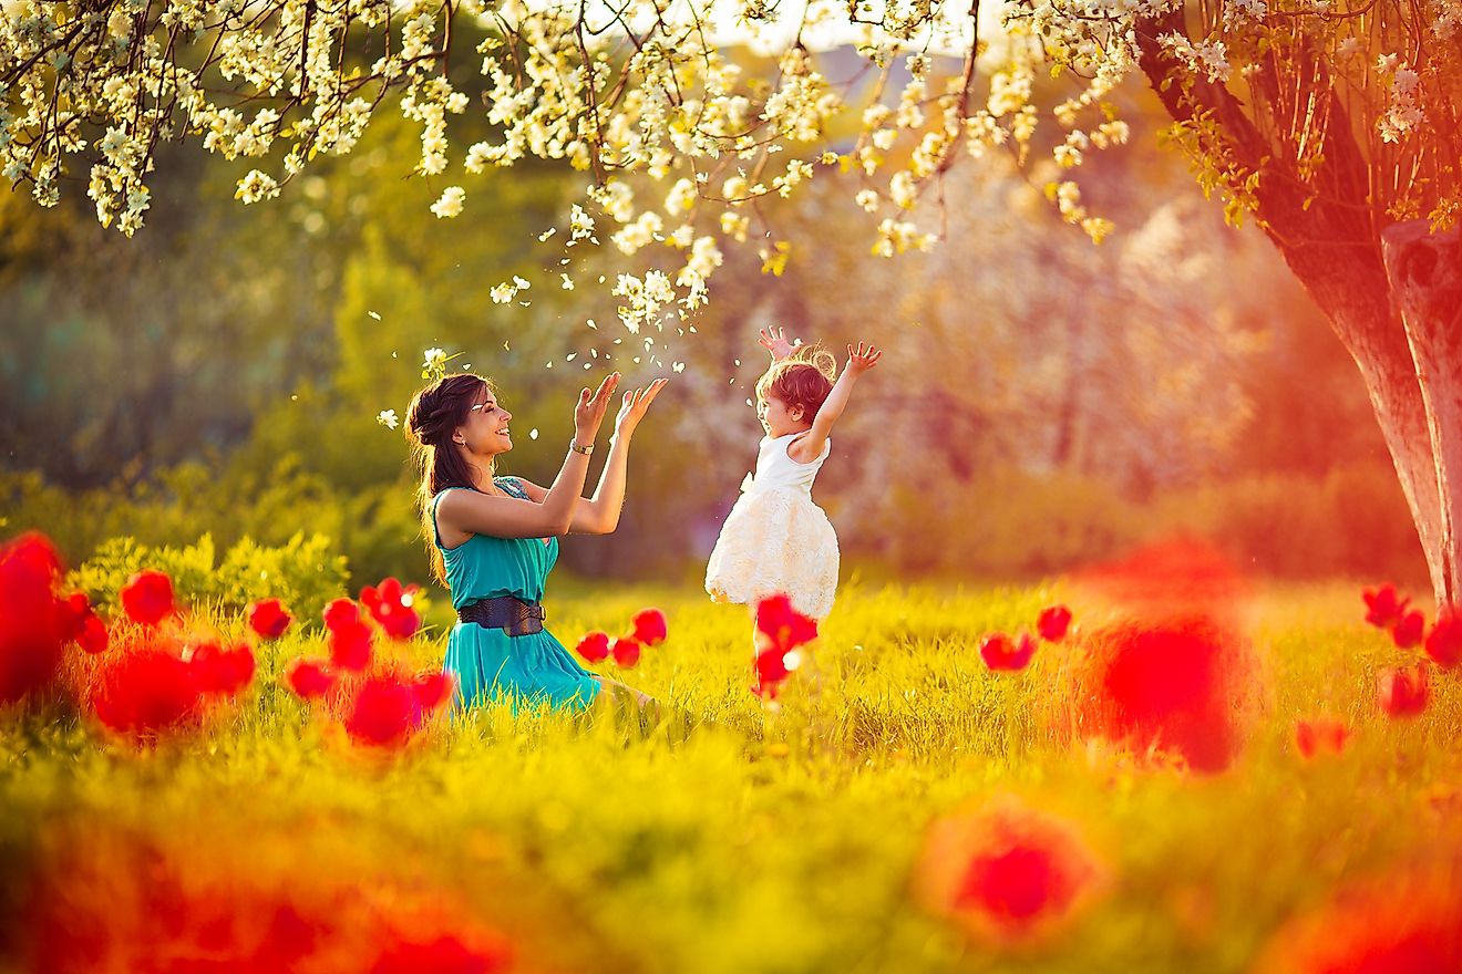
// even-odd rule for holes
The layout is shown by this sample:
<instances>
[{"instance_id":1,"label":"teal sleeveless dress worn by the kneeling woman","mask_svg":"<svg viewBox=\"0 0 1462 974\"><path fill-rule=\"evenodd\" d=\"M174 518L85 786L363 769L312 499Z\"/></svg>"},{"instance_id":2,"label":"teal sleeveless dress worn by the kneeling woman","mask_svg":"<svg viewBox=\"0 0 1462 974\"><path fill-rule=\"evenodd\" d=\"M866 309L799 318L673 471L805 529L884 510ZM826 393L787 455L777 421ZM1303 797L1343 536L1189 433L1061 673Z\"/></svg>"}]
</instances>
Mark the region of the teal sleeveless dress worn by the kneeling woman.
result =
<instances>
[{"instance_id":1,"label":"teal sleeveless dress worn by the kneeling woman","mask_svg":"<svg viewBox=\"0 0 1462 974\"><path fill-rule=\"evenodd\" d=\"M526 499L522 486L509 478L493 480L513 496ZM469 488L447 488L466 491ZM431 502L436 524L437 504ZM452 607L516 596L525 602L539 602L544 583L558 561L558 539L547 543L537 537L490 537L474 534L456 548L436 545L446 562ZM506 699L516 710L520 704L586 708L599 692L599 683L589 670L579 666L569 650L548 629L529 635L507 635L475 622L458 622L447 637L446 670L456 678L456 704L477 704Z\"/></svg>"}]
</instances>

